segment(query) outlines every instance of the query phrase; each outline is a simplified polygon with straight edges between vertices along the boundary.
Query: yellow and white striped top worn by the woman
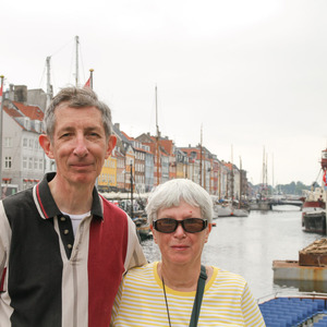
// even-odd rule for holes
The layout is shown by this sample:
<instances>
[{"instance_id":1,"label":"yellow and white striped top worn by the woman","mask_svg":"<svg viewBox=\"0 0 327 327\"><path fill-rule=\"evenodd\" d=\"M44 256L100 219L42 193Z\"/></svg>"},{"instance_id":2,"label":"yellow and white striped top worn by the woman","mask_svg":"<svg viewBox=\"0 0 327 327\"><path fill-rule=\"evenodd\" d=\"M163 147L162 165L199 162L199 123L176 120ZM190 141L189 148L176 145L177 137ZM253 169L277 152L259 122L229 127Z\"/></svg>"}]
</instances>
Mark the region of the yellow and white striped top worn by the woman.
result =
<instances>
[{"instance_id":1,"label":"yellow and white striped top worn by the woman","mask_svg":"<svg viewBox=\"0 0 327 327\"><path fill-rule=\"evenodd\" d=\"M112 310L110 326L169 326L162 282L157 264L131 269L124 277ZM166 287L171 326L189 326L194 292L178 292ZM206 283L198 327L265 326L261 311L239 275L214 267Z\"/></svg>"}]
</instances>

